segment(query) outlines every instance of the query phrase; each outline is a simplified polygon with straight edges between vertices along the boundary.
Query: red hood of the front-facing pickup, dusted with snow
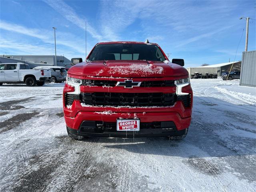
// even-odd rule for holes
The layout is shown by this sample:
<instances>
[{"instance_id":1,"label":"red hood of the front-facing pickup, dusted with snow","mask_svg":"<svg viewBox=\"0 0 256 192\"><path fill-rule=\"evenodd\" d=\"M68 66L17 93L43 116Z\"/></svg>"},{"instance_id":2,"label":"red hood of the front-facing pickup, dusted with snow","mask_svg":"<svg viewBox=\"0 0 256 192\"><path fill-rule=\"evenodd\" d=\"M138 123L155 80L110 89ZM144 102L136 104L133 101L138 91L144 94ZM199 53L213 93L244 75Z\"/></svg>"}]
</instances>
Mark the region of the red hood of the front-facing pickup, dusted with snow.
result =
<instances>
[{"instance_id":1,"label":"red hood of the front-facing pickup, dusted with snow","mask_svg":"<svg viewBox=\"0 0 256 192\"><path fill-rule=\"evenodd\" d=\"M188 71L170 61L108 60L82 62L68 74L98 77L171 77L188 75Z\"/></svg>"}]
</instances>

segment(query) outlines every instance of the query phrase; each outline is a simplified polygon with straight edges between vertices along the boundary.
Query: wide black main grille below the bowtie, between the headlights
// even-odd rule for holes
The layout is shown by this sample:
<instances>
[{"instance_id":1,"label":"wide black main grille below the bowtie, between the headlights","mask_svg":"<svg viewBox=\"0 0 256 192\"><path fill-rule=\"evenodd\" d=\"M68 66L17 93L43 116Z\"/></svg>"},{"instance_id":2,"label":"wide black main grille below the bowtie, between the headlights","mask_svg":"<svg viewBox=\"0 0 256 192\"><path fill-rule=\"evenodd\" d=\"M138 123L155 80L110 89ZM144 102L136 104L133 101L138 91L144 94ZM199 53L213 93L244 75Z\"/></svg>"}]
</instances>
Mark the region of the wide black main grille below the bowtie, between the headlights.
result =
<instances>
[{"instance_id":1,"label":"wide black main grille below the bowtie, between the headlights","mask_svg":"<svg viewBox=\"0 0 256 192\"><path fill-rule=\"evenodd\" d=\"M81 93L81 102L95 106L172 106L174 93Z\"/></svg>"}]
</instances>

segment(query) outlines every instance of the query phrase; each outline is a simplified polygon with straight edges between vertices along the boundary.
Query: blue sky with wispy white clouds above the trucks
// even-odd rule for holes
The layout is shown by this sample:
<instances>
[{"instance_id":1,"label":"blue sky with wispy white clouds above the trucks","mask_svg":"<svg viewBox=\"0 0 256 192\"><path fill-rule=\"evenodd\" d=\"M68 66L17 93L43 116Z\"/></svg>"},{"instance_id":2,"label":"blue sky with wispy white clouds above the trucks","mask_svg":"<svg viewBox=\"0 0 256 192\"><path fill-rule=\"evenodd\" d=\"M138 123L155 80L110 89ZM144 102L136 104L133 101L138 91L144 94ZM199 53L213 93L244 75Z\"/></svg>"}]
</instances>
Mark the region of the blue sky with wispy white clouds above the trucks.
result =
<instances>
[{"instance_id":1,"label":"blue sky with wispy white clouds above the trucks","mask_svg":"<svg viewBox=\"0 0 256 192\"><path fill-rule=\"evenodd\" d=\"M54 55L56 27L57 55L69 59L86 58L87 34L87 54L98 42L148 39L186 67L232 62L244 51L242 16L256 50L255 0L0 0L0 55Z\"/></svg>"}]
</instances>

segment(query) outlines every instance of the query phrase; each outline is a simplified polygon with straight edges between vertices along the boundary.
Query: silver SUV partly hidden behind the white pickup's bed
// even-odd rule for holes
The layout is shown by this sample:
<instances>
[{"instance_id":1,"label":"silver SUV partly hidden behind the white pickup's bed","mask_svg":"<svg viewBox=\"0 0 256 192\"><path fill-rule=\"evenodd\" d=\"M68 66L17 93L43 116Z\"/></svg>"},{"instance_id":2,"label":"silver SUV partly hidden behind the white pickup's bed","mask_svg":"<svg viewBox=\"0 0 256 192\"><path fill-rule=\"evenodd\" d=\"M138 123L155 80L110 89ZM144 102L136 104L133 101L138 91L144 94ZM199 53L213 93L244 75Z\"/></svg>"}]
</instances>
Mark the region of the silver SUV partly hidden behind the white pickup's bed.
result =
<instances>
[{"instance_id":1,"label":"silver SUV partly hidden behind the white pickup's bed","mask_svg":"<svg viewBox=\"0 0 256 192\"><path fill-rule=\"evenodd\" d=\"M64 67L60 66L38 66L34 69L49 69L51 70L52 77L50 82L52 83L61 83L66 80L67 71Z\"/></svg>"}]
</instances>

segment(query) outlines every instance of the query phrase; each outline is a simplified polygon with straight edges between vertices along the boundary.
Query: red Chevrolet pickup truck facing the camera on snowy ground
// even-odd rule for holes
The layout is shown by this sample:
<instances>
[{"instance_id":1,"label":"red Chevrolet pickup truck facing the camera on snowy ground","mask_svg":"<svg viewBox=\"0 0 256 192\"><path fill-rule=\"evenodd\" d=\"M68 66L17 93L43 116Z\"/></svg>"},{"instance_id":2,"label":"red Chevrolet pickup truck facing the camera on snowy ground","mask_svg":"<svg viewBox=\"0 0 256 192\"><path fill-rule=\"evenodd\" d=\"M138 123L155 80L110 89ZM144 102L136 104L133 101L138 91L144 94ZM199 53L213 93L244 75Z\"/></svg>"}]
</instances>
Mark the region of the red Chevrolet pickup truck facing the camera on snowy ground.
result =
<instances>
[{"instance_id":1,"label":"red Chevrolet pickup truck facing the camera on snowy ground","mask_svg":"<svg viewBox=\"0 0 256 192\"><path fill-rule=\"evenodd\" d=\"M104 42L72 64L63 90L70 137L186 136L193 93L184 60L170 62L155 43Z\"/></svg>"}]
</instances>

